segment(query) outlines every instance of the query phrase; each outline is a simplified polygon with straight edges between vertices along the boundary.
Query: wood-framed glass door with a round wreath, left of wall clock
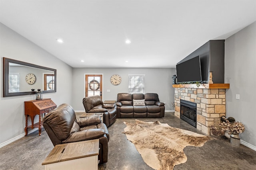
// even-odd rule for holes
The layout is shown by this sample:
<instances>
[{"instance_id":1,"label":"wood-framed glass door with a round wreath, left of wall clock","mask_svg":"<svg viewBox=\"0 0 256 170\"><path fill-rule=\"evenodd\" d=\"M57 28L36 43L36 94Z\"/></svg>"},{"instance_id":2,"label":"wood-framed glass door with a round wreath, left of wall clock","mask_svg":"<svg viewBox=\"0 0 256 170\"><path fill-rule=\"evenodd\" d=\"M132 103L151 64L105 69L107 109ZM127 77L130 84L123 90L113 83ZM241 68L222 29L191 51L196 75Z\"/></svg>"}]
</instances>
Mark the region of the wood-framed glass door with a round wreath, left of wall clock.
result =
<instances>
[{"instance_id":1,"label":"wood-framed glass door with a round wreath, left of wall clock","mask_svg":"<svg viewBox=\"0 0 256 170\"><path fill-rule=\"evenodd\" d=\"M102 98L102 75L85 75L85 96L98 95Z\"/></svg>"}]
</instances>

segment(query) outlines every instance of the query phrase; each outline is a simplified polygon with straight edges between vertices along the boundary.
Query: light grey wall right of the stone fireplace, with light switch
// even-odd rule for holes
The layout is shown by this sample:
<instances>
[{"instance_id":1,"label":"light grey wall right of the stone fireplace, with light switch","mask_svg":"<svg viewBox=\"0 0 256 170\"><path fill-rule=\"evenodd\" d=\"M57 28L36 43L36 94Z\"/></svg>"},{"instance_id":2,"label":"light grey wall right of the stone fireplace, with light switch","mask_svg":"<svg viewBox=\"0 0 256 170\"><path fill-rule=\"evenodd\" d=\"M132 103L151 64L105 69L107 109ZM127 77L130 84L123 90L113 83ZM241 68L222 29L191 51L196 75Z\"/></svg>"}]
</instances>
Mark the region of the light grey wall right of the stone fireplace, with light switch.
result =
<instances>
[{"instance_id":1,"label":"light grey wall right of the stone fireplace, with light switch","mask_svg":"<svg viewBox=\"0 0 256 170\"><path fill-rule=\"evenodd\" d=\"M256 22L225 41L226 117L245 125L240 138L256 149ZM236 99L240 94L240 100Z\"/></svg>"}]
</instances>

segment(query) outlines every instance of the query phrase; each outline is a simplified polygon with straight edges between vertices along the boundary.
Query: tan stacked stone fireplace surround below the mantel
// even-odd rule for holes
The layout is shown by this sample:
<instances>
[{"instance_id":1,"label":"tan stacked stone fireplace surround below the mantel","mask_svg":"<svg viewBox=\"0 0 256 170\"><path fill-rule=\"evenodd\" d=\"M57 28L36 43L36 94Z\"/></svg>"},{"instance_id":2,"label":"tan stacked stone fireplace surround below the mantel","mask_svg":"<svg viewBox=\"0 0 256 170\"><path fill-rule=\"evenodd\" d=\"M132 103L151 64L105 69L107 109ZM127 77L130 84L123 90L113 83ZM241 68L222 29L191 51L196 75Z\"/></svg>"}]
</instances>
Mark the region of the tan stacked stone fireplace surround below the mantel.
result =
<instances>
[{"instance_id":1,"label":"tan stacked stone fireplace surround below the mantel","mask_svg":"<svg viewBox=\"0 0 256 170\"><path fill-rule=\"evenodd\" d=\"M180 99L196 103L196 128L206 135L226 115L226 89L175 88L174 115L179 118Z\"/></svg>"}]
</instances>

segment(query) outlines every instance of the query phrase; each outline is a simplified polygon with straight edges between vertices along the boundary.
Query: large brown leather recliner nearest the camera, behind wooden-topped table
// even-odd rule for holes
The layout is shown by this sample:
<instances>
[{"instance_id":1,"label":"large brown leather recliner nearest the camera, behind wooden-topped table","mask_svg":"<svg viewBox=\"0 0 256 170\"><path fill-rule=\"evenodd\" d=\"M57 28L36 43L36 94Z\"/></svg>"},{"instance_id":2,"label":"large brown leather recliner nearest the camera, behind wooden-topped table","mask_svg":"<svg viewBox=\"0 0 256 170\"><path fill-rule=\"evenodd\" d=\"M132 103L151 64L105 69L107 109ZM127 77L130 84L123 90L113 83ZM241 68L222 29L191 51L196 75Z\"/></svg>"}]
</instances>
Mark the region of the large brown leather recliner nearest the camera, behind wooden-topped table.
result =
<instances>
[{"instance_id":1,"label":"large brown leather recliner nearest the camera, behind wooden-topped table","mask_svg":"<svg viewBox=\"0 0 256 170\"><path fill-rule=\"evenodd\" d=\"M61 104L46 114L43 126L54 146L99 139L98 160L100 163L108 162L108 128L101 122L100 116L76 119L74 109L68 104Z\"/></svg>"}]
</instances>

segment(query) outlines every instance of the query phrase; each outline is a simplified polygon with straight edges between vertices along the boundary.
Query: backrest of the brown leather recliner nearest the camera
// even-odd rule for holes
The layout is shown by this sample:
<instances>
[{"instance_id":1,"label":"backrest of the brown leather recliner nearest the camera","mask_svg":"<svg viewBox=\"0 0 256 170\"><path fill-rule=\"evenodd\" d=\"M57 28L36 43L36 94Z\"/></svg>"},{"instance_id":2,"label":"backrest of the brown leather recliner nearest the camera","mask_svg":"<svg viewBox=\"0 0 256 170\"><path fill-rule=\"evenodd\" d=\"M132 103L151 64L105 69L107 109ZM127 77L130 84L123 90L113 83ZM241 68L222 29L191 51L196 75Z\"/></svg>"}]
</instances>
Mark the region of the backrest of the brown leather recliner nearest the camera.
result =
<instances>
[{"instance_id":1,"label":"backrest of the brown leather recliner nearest the camera","mask_svg":"<svg viewBox=\"0 0 256 170\"><path fill-rule=\"evenodd\" d=\"M74 109L68 104L61 104L44 117L44 127L50 128L50 130L60 141L65 140L70 135L70 131L76 120L76 114ZM45 126L45 124L47 126ZM48 129L46 129L47 131ZM53 134L52 133L52 134Z\"/></svg>"}]
</instances>

